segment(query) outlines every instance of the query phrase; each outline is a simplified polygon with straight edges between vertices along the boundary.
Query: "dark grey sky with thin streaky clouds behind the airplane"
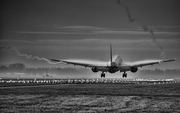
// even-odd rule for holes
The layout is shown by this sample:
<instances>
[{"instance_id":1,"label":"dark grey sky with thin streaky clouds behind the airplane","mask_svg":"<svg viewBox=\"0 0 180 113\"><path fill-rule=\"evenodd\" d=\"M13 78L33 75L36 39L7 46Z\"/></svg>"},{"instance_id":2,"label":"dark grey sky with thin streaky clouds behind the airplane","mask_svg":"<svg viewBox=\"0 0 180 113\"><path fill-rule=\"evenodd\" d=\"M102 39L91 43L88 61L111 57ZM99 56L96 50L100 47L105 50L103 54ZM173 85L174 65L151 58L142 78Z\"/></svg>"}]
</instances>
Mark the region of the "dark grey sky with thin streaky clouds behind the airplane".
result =
<instances>
[{"instance_id":1,"label":"dark grey sky with thin streaky clouds behind the airplane","mask_svg":"<svg viewBox=\"0 0 180 113\"><path fill-rule=\"evenodd\" d=\"M109 61L113 54L123 61L166 58L175 62L144 69L179 69L179 0L1 0L0 45L10 45L22 54L43 58ZM154 31L145 32L142 25ZM0 50L0 64L24 63L27 67L69 67L27 59L7 49ZM93 73L93 72L92 72Z\"/></svg>"}]
</instances>

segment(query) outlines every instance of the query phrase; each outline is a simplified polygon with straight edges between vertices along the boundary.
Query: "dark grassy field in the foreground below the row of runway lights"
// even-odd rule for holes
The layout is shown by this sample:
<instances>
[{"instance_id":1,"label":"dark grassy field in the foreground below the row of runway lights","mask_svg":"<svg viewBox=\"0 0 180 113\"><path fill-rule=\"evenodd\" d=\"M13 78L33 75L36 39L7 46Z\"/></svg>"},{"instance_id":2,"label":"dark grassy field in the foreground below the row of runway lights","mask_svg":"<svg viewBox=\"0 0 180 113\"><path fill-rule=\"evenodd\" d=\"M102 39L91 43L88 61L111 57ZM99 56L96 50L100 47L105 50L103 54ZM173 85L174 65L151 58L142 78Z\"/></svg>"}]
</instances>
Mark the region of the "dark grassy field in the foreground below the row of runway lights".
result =
<instances>
[{"instance_id":1,"label":"dark grassy field in the foreground below the row of runway lights","mask_svg":"<svg viewBox=\"0 0 180 113\"><path fill-rule=\"evenodd\" d=\"M0 112L180 112L180 83L0 88Z\"/></svg>"}]
</instances>

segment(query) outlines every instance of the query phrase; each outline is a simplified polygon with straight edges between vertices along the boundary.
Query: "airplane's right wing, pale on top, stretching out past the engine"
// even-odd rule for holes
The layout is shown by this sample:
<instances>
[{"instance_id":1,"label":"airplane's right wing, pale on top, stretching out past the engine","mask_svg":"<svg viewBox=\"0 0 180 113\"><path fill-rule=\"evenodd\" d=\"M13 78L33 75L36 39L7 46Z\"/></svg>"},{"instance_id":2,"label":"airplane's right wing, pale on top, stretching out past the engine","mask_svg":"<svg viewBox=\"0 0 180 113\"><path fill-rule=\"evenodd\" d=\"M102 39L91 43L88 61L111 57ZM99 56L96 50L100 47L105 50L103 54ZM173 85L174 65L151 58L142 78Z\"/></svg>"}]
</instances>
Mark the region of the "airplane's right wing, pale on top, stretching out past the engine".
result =
<instances>
[{"instance_id":1,"label":"airplane's right wing, pale on top, stretching out past the engine","mask_svg":"<svg viewBox=\"0 0 180 113\"><path fill-rule=\"evenodd\" d=\"M154 65L154 64L161 64L163 62L171 62L175 61L176 59L163 59L163 60L143 60L143 61L137 61L132 63L124 63L124 66L131 66L131 67L142 67L142 66L148 66L148 65Z\"/></svg>"}]
</instances>

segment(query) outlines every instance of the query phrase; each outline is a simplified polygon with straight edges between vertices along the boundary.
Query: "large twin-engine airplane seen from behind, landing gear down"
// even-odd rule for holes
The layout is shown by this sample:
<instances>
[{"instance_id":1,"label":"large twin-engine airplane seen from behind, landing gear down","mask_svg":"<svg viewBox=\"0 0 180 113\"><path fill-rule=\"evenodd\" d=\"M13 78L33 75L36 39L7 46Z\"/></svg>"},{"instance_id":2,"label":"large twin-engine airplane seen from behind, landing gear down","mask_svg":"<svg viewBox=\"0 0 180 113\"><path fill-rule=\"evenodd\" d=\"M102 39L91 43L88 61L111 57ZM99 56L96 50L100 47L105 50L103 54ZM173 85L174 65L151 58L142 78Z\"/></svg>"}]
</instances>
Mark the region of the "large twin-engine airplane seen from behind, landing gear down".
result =
<instances>
[{"instance_id":1,"label":"large twin-engine airplane seen from behind, landing gear down","mask_svg":"<svg viewBox=\"0 0 180 113\"><path fill-rule=\"evenodd\" d=\"M122 58L119 55L112 56L112 46L110 44L110 61L106 63L98 63L98 62L89 62L89 61L77 61L77 60L61 60L61 59L51 59L52 62L59 62L65 64L72 64L84 67L90 67L94 73L102 72L101 78L105 78L105 72L116 73L123 72L122 78L127 78L127 71L131 71L133 73L138 71L139 67L161 64L163 62L175 61L174 59L162 59L162 60L143 60L138 62L123 62Z\"/></svg>"}]
</instances>

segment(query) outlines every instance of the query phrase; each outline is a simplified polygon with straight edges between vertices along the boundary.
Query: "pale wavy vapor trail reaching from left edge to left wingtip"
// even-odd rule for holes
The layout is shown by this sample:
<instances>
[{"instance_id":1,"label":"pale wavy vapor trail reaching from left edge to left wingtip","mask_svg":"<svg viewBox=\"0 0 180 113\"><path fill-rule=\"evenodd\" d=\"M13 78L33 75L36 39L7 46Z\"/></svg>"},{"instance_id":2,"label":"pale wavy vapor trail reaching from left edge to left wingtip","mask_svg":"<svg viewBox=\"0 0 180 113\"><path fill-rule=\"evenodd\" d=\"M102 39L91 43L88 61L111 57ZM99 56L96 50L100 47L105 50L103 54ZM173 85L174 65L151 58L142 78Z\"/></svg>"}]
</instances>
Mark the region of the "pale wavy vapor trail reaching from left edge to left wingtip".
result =
<instances>
[{"instance_id":1,"label":"pale wavy vapor trail reaching from left edge to left wingtip","mask_svg":"<svg viewBox=\"0 0 180 113\"><path fill-rule=\"evenodd\" d=\"M0 46L0 49L8 49L12 52L15 52L18 56L26 57L27 59L37 59L37 60L44 60L47 61L50 64L58 64L58 63L52 63L49 59L44 58L44 57L38 57L38 56L32 56L28 54L22 54L20 53L17 49L11 47L11 46Z\"/></svg>"}]
</instances>

